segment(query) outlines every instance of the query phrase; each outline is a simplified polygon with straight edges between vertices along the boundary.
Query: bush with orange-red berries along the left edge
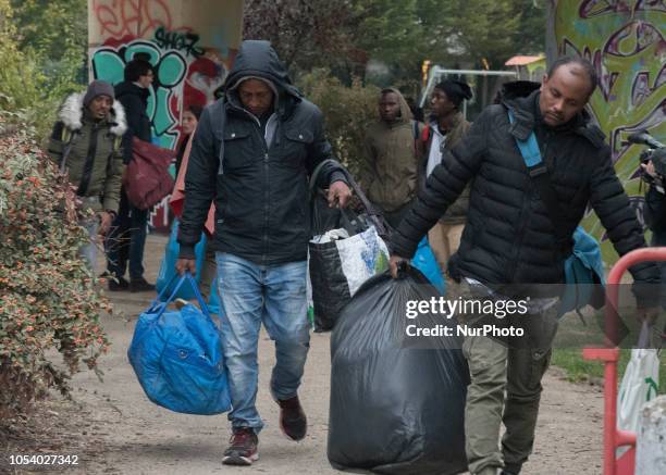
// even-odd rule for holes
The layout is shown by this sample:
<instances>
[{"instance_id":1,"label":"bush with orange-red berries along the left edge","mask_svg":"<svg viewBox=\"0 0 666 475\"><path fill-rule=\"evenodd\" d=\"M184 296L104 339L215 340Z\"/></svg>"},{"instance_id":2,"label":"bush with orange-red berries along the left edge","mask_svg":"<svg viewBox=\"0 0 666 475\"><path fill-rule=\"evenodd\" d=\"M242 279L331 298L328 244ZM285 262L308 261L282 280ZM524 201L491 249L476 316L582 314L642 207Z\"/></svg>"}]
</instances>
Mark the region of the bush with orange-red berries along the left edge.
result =
<instances>
[{"instance_id":1,"label":"bush with orange-red berries along the left edge","mask_svg":"<svg viewBox=\"0 0 666 475\"><path fill-rule=\"evenodd\" d=\"M0 112L0 418L50 387L67 393L81 362L96 370L109 345L99 314L111 310L78 257L88 235L66 177L11 118L18 126Z\"/></svg>"}]
</instances>

